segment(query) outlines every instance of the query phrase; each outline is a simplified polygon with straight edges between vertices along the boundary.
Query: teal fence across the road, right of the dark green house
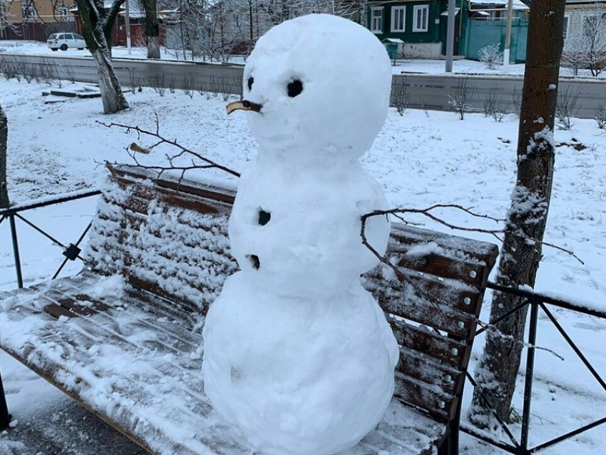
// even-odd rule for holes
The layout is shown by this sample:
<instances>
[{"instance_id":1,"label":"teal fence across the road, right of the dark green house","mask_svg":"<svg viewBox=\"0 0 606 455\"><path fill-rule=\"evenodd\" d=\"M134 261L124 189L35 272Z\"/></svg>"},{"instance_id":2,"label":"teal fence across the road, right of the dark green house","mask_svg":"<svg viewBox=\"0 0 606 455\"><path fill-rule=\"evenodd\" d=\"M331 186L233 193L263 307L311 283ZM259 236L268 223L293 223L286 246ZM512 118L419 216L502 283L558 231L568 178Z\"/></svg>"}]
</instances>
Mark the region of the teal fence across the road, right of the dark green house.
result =
<instances>
[{"instance_id":1,"label":"teal fence across the road, right of the dark green house","mask_svg":"<svg viewBox=\"0 0 606 455\"><path fill-rule=\"evenodd\" d=\"M466 58L480 59L480 49L491 44L500 44L505 48L506 21L468 21L463 37L463 53ZM511 24L510 62L523 63L526 60L526 38L528 21L514 19Z\"/></svg>"}]
</instances>

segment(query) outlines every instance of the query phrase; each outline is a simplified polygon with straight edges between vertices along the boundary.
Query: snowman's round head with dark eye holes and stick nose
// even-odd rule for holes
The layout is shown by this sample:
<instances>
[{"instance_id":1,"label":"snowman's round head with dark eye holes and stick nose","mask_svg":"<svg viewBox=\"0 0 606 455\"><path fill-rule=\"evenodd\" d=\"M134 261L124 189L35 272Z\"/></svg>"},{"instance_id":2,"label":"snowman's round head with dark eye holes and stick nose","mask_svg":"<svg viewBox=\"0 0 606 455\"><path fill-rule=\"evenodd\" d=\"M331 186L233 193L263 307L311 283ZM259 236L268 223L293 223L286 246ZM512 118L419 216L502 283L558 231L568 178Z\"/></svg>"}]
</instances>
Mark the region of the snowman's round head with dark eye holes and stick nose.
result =
<instances>
[{"instance_id":1,"label":"snowman's round head with dark eye holes and stick nose","mask_svg":"<svg viewBox=\"0 0 606 455\"><path fill-rule=\"evenodd\" d=\"M391 63L364 27L327 14L274 26L250 54L240 103L261 150L303 160L352 160L389 108ZM302 156L304 154L304 156Z\"/></svg>"}]
</instances>

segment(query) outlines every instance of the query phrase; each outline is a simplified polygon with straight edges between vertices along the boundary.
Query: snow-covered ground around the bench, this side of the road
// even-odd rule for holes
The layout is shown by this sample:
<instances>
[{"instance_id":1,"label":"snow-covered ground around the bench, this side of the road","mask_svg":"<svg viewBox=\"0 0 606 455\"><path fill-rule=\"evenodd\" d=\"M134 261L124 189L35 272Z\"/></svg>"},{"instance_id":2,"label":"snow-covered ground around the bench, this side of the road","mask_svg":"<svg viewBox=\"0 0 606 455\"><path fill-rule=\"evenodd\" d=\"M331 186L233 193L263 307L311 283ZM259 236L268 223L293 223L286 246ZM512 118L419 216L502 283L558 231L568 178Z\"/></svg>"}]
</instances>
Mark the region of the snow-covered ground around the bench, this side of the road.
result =
<instances>
[{"instance_id":1,"label":"snow-covered ground around the bench, this side of the road","mask_svg":"<svg viewBox=\"0 0 606 455\"><path fill-rule=\"evenodd\" d=\"M416 66L411 63L411 68ZM9 118L9 190L14 203L101 186L106 177L103 161L128 162L125 148L130 143L153 143L99 122L155 130L157 115L160 133L167 138L176 138L185 147L235 170L242 170L255 154L244 116L227 117L226 103L219 96L195 93L190 98L180 91L159 96L143 88L142 93L126 93L130 110L104 116L99 99L50 100L41 96L45 88L25 81L0 82L0 99ZM515 178L517 128L513 115L495 122L481 114L468 114L461 121L454 113L407 110L399 116L391 110L362 162L383 185L391 205L424 208L453 203L503 218ZM546 241L572 250L584 264L546 247L537 288L606 309L606 134L595 121L576 120L572 131L556 131L555 141L559 145ZM170 149L158 148L143 159L145 163L165 163L165 153ZM190 177L233 182L217 170L196 171ZM81 200L24 216L68 243L77 240L94 208L94 200ZM494 226L456 211L444 211L441 216L466 227ZM446 229L424 222L434 229ZM18 223L18 229L24 280L31 285L51 276L63 256L60 248L24 223ZM497 242L480 233L466 235ZM10 290L16 281L8 223L0 225L0 239L0 290ZM70 264L65 272L75 270L78 265ZM488 309L489 301L483 312L485 320ZM565 311L555 314L597 371L606 376L606 352L601 344L606 320ZM476 357L482 342L478 339L476 343ZM582 369L545 317L541 318L538 345L555 351L563 360L546 350L537 353L531 444L601 418L606 399L606 393ZM0 435L0 454L143 453L5 354L0 354L0 369L9 407L18 421L14 429ZM515 406L522 407L520 394ZM602 455L605 441L606 427L600 426L545 453ZM502 453L468 436L463 436L461 446L463 453L472 455Z\"/></svg>"}]
</instances>

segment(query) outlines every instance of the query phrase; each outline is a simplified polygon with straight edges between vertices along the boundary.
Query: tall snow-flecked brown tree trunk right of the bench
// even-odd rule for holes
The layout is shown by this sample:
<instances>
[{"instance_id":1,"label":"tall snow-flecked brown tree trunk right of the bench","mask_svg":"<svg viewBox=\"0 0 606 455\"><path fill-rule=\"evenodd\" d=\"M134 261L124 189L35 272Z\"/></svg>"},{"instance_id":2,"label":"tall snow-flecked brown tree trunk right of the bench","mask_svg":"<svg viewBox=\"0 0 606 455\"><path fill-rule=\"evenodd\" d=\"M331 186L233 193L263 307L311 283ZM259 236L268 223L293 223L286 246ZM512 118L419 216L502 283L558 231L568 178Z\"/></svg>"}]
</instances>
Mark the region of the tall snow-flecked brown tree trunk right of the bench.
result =
<instances>
[{"instance_id":1,"label":"tall snow-flecked brown tree trunk right of the bench","mask_svg":"<svg viewBox=\"0 0 606 455\"><path fill-rule=\"evenodd\" d=\"M513 188L497 282L500 285L534 287L542 257L553 183L553 126L558 100L558 76L563 48L564 3L533 1L530 6L528 46L518 131L518 175ZM522 302L518 297L495 292L491 320ZM516 312L487 332L486 347L478 363L478 387L473 394L471 420L491 426L491 414L483 393L501 419L510 418L515 379L528 308Z\"/></svg>"}]
</instances>

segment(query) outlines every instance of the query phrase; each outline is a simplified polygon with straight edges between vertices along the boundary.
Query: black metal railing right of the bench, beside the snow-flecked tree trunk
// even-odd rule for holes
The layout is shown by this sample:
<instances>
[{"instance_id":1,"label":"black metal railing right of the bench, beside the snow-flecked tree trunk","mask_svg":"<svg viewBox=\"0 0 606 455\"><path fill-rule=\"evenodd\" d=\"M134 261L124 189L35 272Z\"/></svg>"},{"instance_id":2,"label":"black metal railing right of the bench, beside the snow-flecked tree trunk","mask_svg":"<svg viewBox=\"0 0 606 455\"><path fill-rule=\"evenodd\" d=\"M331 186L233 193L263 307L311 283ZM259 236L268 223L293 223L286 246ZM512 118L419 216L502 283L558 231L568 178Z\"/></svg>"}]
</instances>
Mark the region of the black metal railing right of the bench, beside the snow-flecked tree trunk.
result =
<instances>
[{"instance_id":1,"label":"black metal railing right of the bench, beside the snow-flecked tree trunk","mask_svg":"<svg viewBox=\"0 0 606 455\"><path fill-rule=\"evenodd\" d=\"M557 308L563 308L564 310L570 310L572 312L577 312L581 315L597 317L600 319L606 319L606 311L597 310L597 308L595 308L595 307L589 307L589 306L584 307L582 305L577 305L575 303L568 302L563 299L549 297L548 295L543 295L538 292L531 292L528 290L520 290L520 289L511 288L511 287L500 286L493 282L488 282L488 288L495 290L497 292L503 292L505 294L515 295L517 297L520 297L520 299L522 301L520 302L519 305L514 307L512 310L505 312L503 315L498 317L498 319L495 319L490 324L481 327L481 329L478 329L478 331L476 332L476 336L478 336L479 334L482 334L483 332L486 332L486 330L490 329L495 324L498 324L498 322L502 321L503 319L506 319L507 317L510 317L511 315L515 314L516 312L525 310L525 308L527 306L530 307L530 321L528 324L528 342L526 344L526 349L528 349L528 352L526 355L526 363L525 363L524 396L523 396L523 409L522 409L522 418L521 418L521 426L520 426L520 436L519 436L519 438L516 438L513 434L512 429L510 429L510 426L508 426L508 424L506 424L502 419L500 419L499 416L496 414L496 412L493 411L492 409L491 409L491 412L492 412L493 416L495 417L495 420L498 421L500 429L503 430L503 433L505 435L507 435L509 441L502 441L502 440L496 438L495 436L493 436L493 434L480 431L480 430L476 429L474 426L471 426L470 424L461 423L460 427L459 427L460 431L463 431L463 433L469 434L470 436L473 436L476 439L480 439L481 441L484 441L488 444L498 447L499 449L502 449L503 451L508 452L510 454L533 455L533 454L537 454L540 451L548 449L548 447L552 447L555 444L565 441L566 439L570 439L587 430L590 430L592 428L595 428L596 426L600 426L600 425L606 423L606 416L604 416L601 419L591 421L583 426L578 427L577 429L568 431L565 434L560 434L560 435L554 437L553 439L550 439L549 441L545 441L545 442L535 445L535 446L529 446L530 409L532 407L532 402L533 402L533 381L534 381L534 377L535 377L535 352L537 349L535 344L536 344L537 332L538 332L539 311L542 311L543 314L545 314L545 316L547 317L547 320L549 322L551 322L551 324L553 324L553 326L558 330L558 332L562 335L563 339L565 339L565 341L568 343L568 345L570 346L572 351L575 352L578 359L580 359L582 364L585 366L587 371L589 371L592 374L592 376L596 379L597 383L600 384L600 387L602 387L602 389L605 391L606 391L605 380L600 376L600 374L597 372L595 367L592 366L592 364L587 359L585 354L583 354L582 350L572 340L572 337L570 337L570 334L568 334L568 332L566 332L564 327L562 327L562 325L554 317L553 313L549 310L548 305L557 307ZM471 374L469 372L467 373L467 379L468 379L468 382L470 382L474 388L477 386L476 381L473 379L473 377L471 376ZM488 399L486 399L486 397L483 397L483 399L485 400L486 403L488 403L488 406L490 406Z\"/></svg>"}]
</instances>

